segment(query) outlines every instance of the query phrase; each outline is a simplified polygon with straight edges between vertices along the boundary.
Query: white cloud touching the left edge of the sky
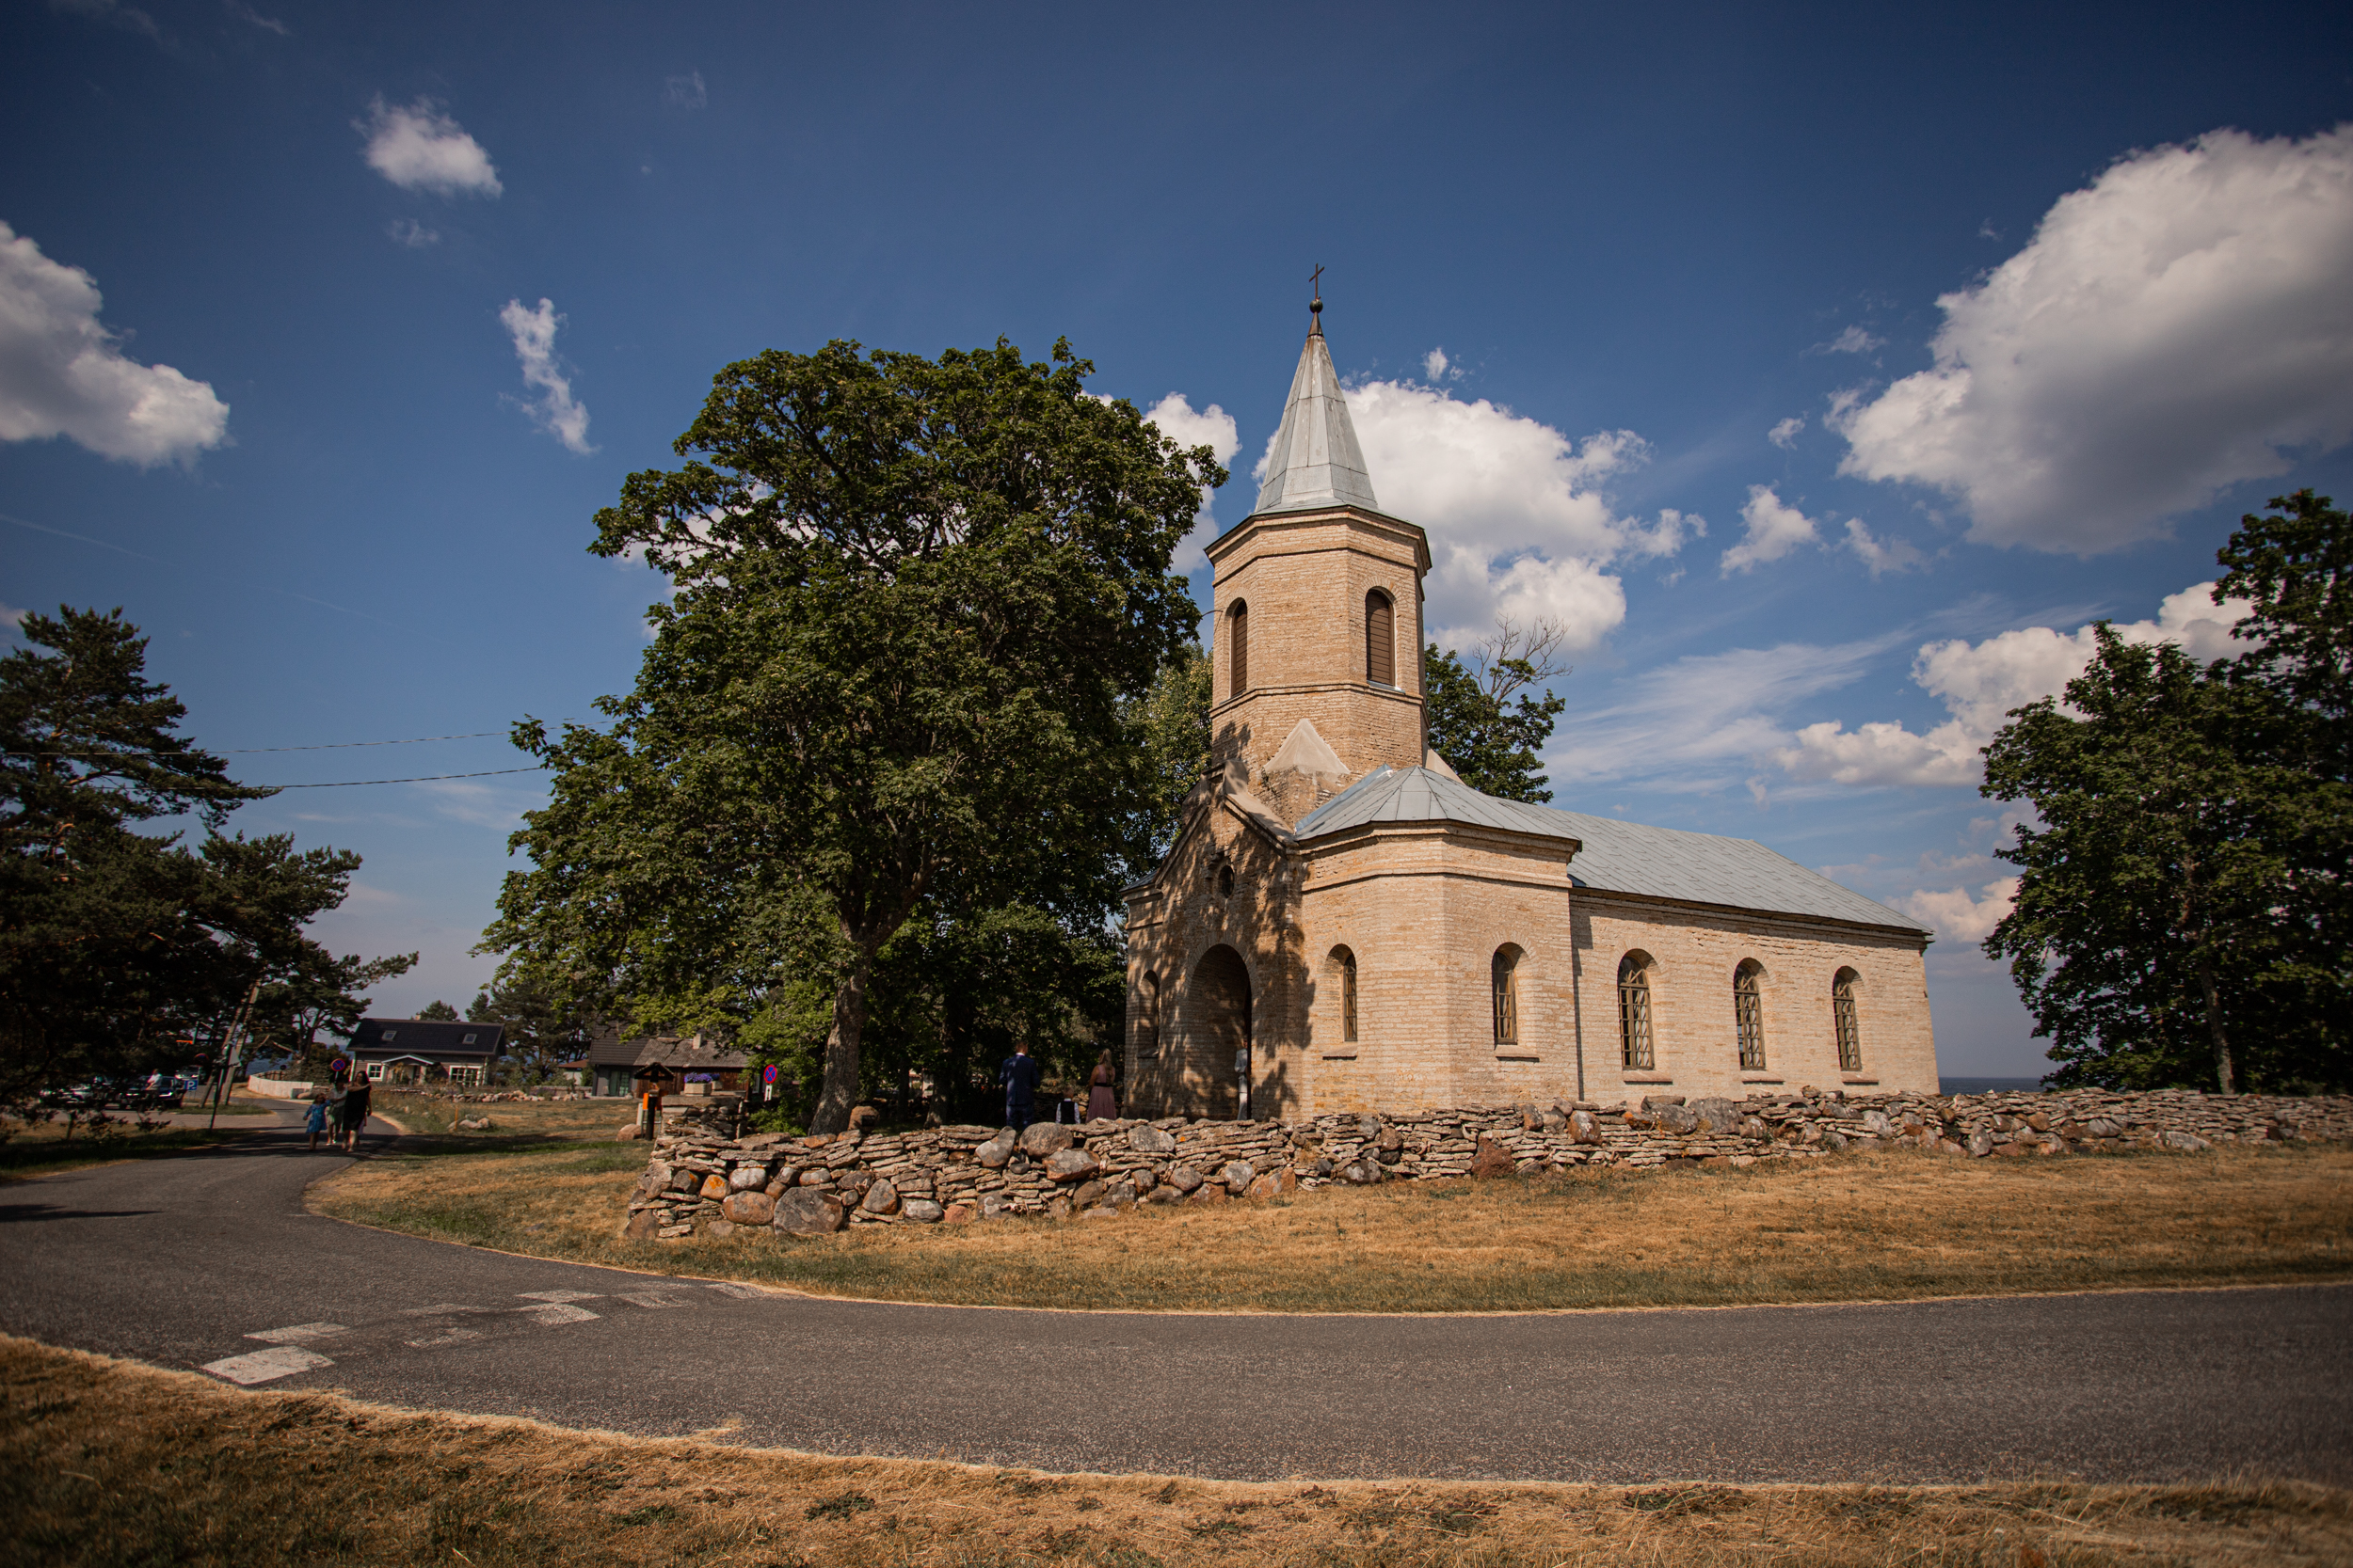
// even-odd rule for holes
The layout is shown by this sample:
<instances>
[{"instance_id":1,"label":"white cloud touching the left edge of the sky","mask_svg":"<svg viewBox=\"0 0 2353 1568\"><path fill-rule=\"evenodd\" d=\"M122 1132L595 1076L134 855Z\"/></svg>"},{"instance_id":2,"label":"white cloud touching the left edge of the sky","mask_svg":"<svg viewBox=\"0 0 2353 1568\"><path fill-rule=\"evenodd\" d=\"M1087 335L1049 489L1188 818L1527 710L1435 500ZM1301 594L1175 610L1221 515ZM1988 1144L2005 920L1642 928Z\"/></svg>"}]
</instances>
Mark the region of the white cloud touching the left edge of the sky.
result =
<instances>
[{"instance_id":1,"label":"white cloud touching the left edge of the sky","mask_svg":"<svg viewBox=\"0 0 2353 1568\"><path fill-rule=\"evenodd\" d=\"M125 463L188 461L228 437L228 404L139 364L99 324L99 284L0 223L0 442L64 435Z\"/></svg>"}]
</instances>

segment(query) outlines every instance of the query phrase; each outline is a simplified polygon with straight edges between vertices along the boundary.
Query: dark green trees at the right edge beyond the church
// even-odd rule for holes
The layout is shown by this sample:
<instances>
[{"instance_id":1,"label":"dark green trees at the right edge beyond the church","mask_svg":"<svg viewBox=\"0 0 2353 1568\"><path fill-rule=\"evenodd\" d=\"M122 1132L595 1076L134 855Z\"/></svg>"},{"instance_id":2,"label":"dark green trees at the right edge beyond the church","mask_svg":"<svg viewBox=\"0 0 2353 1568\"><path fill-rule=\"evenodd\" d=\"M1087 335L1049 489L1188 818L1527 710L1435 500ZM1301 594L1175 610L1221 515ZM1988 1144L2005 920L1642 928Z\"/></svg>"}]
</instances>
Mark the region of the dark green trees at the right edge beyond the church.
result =
<instances>
[{"instance_id":1,"label":"dark green trees at the right edge beyond the church","mask_svg":"<svg viewBox=\"0 0 2353 1568\"><path fill-rule=\"evenodd\" d=\"M2064 698L2012 710L1984 795L2033 806L1986 938L2061 1084L2353 1086L2348 618L2353 531L2275 498L2221 550L2254 609L2231 661L2099 623Z\"/></svg>"}]
</instances>

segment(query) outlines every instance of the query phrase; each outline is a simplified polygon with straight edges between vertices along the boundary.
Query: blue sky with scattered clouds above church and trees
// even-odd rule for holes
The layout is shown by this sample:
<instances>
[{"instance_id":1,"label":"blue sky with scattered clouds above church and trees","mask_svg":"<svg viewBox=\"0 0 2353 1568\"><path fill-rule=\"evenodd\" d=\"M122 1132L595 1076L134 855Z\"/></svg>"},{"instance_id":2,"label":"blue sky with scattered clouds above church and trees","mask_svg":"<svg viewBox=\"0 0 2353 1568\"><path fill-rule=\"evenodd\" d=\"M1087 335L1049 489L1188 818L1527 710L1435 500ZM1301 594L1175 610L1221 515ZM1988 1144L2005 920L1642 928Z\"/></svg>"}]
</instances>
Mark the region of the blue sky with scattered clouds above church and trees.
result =
<instances>
[{"instance_id":1,"label":"blue sky with scattered clouds above church and trees","mask_svg":"<svg viewBox=\"0 0 2353 1568\"><path fill-rule=\"evenodd\" d=\"M2353 494L2353 14L1925 9L14 5L0 602L125 607L212 748L492 731L254 783L515 766L631 684L591 517L725 362L1066 334L1221 529L1322 263L1431 625L1569 630L1558 804L1937 924L1944 1070L2038 1072L1974 748L2094 616L2226 651L2235 517ZM405 1013L536 799L238 825L367 856L320 933Z\"/></svg>"}]
</instances>

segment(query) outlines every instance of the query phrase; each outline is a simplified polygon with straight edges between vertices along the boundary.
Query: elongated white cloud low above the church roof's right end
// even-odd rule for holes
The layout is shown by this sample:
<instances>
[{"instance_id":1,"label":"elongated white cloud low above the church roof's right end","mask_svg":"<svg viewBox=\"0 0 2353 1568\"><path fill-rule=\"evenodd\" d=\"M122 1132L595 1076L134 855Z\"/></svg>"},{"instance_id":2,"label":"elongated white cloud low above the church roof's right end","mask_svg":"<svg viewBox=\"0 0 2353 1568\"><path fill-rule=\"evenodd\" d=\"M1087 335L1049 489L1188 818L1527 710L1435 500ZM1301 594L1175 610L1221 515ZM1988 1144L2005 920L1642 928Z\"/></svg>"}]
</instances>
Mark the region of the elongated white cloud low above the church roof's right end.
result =
<instances>
[{"instance_id":1,"label":"elongated white cloud low above the church roof's right end","mask_svg":"<svg viewBox=\"0 0 2353 1568\"><path fill-rule=\"evenodd\" d=\"M2245 649L2231 628L2245 599L2214 604L2214 583L2193 583L2158 604L2155 621L2118 623L2125 642L2174 642L2191 658L2228 658ZM2097 651L2089 625L2059 632L2026 625L1984 642L1929 642L1913 658L1913 679L1944 701L1948 717L1925 733L1904 724L1845 729L1831 719L1807 724L1774 762L1795 778L1842 785L1974 785L1981 750L2012 708L2059 696L2085 672Z\"/></svg>"}]
</instances>

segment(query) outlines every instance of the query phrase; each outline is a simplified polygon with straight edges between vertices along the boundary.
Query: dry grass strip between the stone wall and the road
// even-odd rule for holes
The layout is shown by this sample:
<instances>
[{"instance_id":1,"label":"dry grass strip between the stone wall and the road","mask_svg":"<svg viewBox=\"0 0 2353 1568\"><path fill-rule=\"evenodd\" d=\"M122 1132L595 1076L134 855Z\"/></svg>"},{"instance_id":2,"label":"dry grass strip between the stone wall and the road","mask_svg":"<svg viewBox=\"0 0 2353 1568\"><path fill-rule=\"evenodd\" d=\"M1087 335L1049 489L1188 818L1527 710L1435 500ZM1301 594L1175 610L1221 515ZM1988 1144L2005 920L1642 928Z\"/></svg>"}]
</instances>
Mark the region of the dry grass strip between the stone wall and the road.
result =
<instances>
[{"instance_id":1,"label":"dry grass strip between the stone wall and the road","mask_svg":"<svg viewBox=\"0 0 2353 1568\"><path fill-rule=\"evenodd\" d=\"M1497 1312L2353 1276L2353 1150L1955 1161L1882 1150L1748 1171L1327 1187L1118 1220L621 1241L642 1145L374 1161L322 1213L447 1241L922 1302Z\"/></svg>"}]
</instances>

